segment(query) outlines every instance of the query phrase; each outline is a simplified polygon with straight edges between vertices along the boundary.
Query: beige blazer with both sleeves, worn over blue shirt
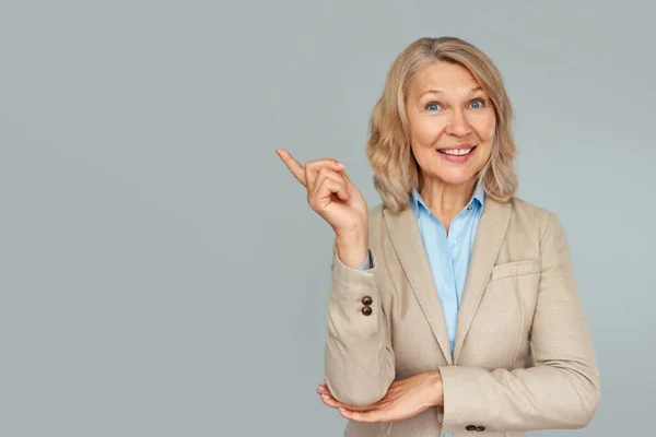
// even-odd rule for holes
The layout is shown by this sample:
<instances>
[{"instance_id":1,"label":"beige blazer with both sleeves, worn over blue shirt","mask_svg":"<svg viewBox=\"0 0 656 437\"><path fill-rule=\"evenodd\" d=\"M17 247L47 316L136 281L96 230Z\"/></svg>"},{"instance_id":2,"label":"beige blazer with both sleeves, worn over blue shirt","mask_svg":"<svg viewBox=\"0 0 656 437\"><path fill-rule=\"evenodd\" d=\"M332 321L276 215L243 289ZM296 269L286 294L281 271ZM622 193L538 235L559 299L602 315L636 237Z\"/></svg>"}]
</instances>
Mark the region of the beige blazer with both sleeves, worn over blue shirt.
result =
<instances>
[{"instance_id":1,"label":"beige blazer with both sleeves, worn over blue shirt","mask_svg":"<svg viewBox=\"0 0 656 437\"><path fill-rule=\"evenodd\" d=\"M345 436L516 437L589 423L599 375L557 216L487 198L453 357L412 209L371 209L370 249L368 271L342 264L333 249L328 387L342 402L368 405L393 380L440 369L444 408L393 423L349 421Z\"/></svg>"}]
</instances>

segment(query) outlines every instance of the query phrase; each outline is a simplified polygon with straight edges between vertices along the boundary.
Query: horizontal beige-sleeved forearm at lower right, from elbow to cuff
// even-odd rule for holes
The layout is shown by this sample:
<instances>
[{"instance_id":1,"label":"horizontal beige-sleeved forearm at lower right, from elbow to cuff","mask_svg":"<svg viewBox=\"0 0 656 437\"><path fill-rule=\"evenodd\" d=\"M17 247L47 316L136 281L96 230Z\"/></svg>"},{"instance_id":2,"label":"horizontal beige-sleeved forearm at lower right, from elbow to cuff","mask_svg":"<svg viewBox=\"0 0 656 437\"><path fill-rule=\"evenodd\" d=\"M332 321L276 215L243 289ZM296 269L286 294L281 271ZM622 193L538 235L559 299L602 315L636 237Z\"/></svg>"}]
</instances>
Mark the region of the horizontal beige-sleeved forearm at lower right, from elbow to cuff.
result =
<instances>
[{"instance_id":1,"label":"horizontal beige-sleeved forearm at lower right, from elbow to cuff","mask_svg":"<svg viewBox=\"0 0 656 437\"><path fill-rule=\"evenodd\" d=\"M444 395L443 432L468 425L489 430L582 428L599 402L599 377L583 362L527 369L440 368Z\"/></svg>"}]
</instances>

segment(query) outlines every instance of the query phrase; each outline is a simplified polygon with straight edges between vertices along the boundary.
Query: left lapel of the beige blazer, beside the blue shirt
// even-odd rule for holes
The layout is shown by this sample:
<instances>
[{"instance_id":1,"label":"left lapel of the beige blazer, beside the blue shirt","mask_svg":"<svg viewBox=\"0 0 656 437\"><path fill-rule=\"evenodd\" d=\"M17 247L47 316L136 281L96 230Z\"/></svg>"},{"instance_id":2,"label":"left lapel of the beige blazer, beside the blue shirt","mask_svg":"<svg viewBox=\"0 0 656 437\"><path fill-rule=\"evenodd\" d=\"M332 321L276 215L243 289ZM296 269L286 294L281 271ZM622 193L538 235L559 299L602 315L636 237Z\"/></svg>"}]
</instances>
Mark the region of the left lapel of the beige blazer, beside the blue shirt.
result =
<instances>
[{"instance_id":1,"label":"left lapel of the beige blazer, beside the blue shirt","mask_svg":"<svg viewBox=\"0 0 656 437\"><path fill-rule=\"evenodd\" d=\"M411 206L398 214L384 210L385 223L391 244L397 252L401 267L414 292L423 314L429 320L431 330L449 365L453 365L446 320L437 287L433 279L431 265L419 233L417 217Z\"/></svg>"}]
</instances>

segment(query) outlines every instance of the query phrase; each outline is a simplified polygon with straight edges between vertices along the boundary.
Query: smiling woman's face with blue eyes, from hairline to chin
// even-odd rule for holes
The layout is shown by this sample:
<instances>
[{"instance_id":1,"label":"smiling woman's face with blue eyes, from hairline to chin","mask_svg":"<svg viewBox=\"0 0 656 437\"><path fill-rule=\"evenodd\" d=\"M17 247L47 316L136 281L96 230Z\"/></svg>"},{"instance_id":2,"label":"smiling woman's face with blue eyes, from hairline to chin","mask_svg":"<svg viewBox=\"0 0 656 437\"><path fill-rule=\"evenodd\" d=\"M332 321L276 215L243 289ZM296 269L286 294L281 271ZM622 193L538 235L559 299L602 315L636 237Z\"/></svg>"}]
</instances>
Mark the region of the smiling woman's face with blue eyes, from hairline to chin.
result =
<instances>
[{"instance_id":1,"label":"smiling woman's face with blue eyes, from hairline to chin","mask_svg":"<svg viewBox=\"0 0 656 437\"><path fill-rule=\"evenodd\" d=\"M425 67L411 84L406 114L424 184L476 180L490 158L496 116L469 70L447 62Z\"/></svg>"}]
</instances>

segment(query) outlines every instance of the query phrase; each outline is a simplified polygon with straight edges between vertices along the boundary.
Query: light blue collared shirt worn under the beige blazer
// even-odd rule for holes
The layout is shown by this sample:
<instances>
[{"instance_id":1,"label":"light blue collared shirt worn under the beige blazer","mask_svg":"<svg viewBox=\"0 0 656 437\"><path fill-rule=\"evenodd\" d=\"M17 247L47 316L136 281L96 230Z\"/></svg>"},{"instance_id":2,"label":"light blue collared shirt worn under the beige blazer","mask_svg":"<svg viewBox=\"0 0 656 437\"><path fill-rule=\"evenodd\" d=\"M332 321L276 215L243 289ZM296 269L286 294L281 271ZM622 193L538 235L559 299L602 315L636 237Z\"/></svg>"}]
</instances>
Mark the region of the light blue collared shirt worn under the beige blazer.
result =
<instances>
[{"instance_id":1,"label":"light blue collared shirt worn under the beige blazer","mask_svg":"<svg viewBox=\"0 0 656 437\"><path fill-rule=\"evenodd\" d=\"M471 250L483 213L484 201L485 191L479 182L467 205L452 220L447 234L440 218L426 206L417 189L412 191L410 198L412 211L419 225L419 233L442 302L452 354L462 290L465 288ZM370 262L367 256L361 270L368 269L371 267ZM453 433L443 435L450 437Z\"/></svg>"}]
</instances>

